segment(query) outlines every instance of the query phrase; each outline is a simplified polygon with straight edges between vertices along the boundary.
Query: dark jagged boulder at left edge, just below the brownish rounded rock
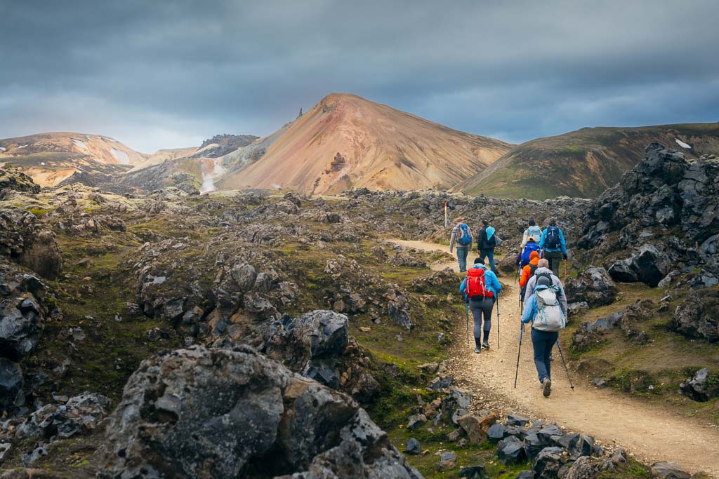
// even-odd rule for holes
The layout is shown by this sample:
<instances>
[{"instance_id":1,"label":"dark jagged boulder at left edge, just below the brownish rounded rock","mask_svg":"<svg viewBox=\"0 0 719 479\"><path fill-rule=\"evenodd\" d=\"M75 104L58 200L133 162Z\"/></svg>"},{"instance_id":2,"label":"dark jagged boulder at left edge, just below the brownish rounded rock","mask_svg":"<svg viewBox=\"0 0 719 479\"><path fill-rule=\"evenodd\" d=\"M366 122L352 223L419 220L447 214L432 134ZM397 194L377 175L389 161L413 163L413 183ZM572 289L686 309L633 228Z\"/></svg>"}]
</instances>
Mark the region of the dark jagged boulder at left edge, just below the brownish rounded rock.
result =
<instances>
[{"instance_id":1,"label":"dark jagged boulder at left edge, just below the brownish rounded rock","mask_svg":"<svg viewBox=\"0 0 719 479\"><path fill-rule=\"evenodd\" d=\"M45 284L0 262L0 356L22 361L45 327Z\"/></svg>"}]
</instances>

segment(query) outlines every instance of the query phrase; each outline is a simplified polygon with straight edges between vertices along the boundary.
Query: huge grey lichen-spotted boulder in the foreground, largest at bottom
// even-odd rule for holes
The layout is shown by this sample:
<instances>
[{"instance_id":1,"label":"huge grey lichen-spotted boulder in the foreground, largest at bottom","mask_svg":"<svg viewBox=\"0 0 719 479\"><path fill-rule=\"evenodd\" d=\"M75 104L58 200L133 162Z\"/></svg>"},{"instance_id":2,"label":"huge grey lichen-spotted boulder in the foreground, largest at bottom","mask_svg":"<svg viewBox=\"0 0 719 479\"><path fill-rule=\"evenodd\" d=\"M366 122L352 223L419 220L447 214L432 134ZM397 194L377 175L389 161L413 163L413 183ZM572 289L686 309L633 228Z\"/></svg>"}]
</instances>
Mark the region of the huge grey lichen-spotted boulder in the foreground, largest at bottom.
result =
<instances>
[{"instance_id":1,"label":"huge grey lichen-spotted boulder in the foreground, largest at bottom","mask_svg":"<svg viewBox=\"0 0 719 479\"><path fill-rule=\"evenodd\" d=\"M107 431L108 478L421 478L352 399L249 348L143 361Z\"/></svg>"}]
</instances>

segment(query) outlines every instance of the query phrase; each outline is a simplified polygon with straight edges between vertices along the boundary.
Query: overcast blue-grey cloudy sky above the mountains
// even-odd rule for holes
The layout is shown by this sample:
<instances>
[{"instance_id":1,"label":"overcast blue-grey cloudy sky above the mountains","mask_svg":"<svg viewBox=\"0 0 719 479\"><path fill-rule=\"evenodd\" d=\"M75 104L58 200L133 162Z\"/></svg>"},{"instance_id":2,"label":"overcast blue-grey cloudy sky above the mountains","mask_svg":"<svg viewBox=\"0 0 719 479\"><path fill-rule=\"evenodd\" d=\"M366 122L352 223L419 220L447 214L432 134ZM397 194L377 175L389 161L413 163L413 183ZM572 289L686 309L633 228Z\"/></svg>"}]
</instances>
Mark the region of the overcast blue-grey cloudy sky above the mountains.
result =
<instances>
[{"instance_id":1,"label":"overcast blue-grey cloudy sky above the mountains","mask_svg":"<svg viewBox=\"0 0 719 479\"><path fill-rule=\"evenodd\" d=\"M512 142L719 121L718 18L715 0L0 0L0 137L152 152L268 134L334 91Z\"/></svg>"}]
</instances>

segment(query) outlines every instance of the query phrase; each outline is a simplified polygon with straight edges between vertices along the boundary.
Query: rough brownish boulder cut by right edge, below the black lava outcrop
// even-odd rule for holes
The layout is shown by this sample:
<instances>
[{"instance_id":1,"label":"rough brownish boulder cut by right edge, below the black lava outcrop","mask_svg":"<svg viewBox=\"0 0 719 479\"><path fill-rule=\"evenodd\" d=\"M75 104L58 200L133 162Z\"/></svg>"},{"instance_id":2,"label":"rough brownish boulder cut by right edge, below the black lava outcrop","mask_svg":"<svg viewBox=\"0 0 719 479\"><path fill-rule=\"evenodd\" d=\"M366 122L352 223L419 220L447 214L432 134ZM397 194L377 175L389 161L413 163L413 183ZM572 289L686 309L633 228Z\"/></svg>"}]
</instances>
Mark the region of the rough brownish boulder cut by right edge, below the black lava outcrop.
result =
<instances>
[{"instance_id":1,"label":"rough brownish boulder cut by right edge, below the black lava outcrop","mask_svg":"<svg viewBox=\"0 0 719 479\"><path fill-rule=\"evenodd\" d=\"M719 341L719 291L694 291L677 306L672 329L687 338Z\"/></svg>"}]
</instances>

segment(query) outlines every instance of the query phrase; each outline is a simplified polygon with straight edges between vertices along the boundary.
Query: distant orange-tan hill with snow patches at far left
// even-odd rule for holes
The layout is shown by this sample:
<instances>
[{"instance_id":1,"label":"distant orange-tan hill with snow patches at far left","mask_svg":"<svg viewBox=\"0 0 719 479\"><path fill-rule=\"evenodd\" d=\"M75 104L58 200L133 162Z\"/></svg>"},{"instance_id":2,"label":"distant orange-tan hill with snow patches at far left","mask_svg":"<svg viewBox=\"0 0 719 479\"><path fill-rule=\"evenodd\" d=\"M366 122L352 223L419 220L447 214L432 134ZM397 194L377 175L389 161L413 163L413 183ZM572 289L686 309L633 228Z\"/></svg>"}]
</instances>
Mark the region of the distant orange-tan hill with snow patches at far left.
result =
<instances>
[{"instance_id":1,"label":"distant orange-tan hill with snow patches at far left","mask_svg":"<svg viewBox=\"0 0 719 479\"><path fill-rule=\"evenodd\" d=\"M16 165L41 186L75 172L116 175L147 156L108 136L56 132L0 139L0 164Z\"/></svg>"}]
</instances>

